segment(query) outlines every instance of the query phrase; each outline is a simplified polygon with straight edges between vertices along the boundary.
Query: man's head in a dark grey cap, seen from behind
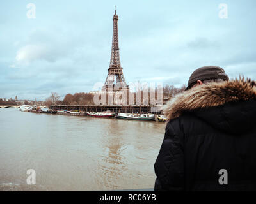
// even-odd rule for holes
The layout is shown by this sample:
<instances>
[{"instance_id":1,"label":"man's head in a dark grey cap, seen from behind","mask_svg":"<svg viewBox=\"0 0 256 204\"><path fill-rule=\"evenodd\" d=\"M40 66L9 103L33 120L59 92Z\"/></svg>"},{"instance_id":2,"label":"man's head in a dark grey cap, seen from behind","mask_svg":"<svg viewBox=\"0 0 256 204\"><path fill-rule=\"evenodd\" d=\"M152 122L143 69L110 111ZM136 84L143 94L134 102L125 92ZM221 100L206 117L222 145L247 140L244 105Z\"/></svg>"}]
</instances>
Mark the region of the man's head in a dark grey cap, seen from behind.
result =
<instances>
[{"instance_id":1,"label":"man's head in a dark grey cap, seen from behind","mask_svg":"<svg viewBox=\"0 0 256 204\"><path fill-rule=\"evenodd\" d=\"M197 85L207 84L209 82L223 82L228 81L228 75L224 69L219 66L203 66L196 69L189 77L188 87L185 89L191 89Z\"/></svg>"}]
</instances>

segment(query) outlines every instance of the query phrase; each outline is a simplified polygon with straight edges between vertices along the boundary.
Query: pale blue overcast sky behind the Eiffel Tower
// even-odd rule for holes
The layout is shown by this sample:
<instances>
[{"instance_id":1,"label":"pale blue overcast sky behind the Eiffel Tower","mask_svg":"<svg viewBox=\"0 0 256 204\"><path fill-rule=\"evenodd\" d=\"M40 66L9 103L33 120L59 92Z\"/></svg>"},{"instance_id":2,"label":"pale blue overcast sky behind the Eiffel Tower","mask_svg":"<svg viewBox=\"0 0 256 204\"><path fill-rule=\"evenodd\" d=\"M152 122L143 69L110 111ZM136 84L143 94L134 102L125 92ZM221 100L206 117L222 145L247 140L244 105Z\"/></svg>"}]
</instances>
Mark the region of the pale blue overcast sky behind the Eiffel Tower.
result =
<instances>
[{"instance_id":1,"label":"pale blue overcast sky behind the Eiffel Tower","mask_svg":"<svg viewBox=\"0 0 256 204\"><path fill-rule=\"evenodd\" d=\"M27 17L28 3L35 4L36 18ZM220 3L228 6L227 18L220 18ZM180 86L206 65L256 79L255 0L4 0L0 98L44 100L51 92L63 97L104 82L115 5L127 83Z\"/></svg>"}]
</instances>

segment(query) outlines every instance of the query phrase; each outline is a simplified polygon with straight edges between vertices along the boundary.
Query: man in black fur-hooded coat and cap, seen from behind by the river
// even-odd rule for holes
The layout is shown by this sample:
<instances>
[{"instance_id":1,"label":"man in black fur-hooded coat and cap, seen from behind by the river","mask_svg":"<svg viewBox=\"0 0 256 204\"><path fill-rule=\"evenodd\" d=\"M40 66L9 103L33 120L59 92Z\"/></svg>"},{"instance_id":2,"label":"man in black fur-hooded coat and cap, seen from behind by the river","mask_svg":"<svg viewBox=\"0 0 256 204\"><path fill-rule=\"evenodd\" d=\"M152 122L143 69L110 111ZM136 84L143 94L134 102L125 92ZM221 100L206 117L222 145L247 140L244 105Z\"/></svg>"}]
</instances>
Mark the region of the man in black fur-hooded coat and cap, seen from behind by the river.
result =
<instances>
[{"instance_id":1,"label":"man in black fur-hooded coat and cap, seen from behind by the river","mask_svg":"<svg viewBox=\"0 0 256 204\"><path fill-rule=\"evenodd\" d=\"M256 191L256 87L216 66L171 99L155 191Z\"/></svg>"}]
</instances>

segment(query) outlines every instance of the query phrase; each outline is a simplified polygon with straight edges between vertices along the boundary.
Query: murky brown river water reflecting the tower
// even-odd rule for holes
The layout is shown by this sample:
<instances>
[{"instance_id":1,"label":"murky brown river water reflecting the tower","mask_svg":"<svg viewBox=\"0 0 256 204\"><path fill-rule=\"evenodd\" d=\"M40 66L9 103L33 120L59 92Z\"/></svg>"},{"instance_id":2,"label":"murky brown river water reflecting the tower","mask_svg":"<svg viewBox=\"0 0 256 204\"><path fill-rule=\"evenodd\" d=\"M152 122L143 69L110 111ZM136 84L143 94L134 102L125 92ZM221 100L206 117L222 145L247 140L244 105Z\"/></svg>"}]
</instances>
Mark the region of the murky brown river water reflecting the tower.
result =
<instances>
[{"instance_id":1,"label":"murky brown river water reflecting the tower","mask_svg":"<svg viewBox=\"0 0 256 204\"><path fill-rule=\"evenodd\" d=\"M0 108L0 191L154 188L165 124ZM28 185L27 170L36 173Z\"/></svg>"}]
</instances>

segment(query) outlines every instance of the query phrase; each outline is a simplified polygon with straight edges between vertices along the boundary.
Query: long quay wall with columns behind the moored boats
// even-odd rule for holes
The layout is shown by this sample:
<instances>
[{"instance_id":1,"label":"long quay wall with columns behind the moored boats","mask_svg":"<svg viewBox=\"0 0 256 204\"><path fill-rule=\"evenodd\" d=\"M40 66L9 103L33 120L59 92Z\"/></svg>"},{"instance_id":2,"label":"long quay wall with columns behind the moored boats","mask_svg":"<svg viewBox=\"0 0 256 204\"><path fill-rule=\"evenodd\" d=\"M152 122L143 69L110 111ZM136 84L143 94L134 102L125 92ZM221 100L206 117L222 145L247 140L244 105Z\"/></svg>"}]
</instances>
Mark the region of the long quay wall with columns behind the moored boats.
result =
<instances>
[{"instance_id":1,"label":"long quay wall with columns behind the moored boats","mask_svg":"<svg viewBox=\"0 0 256 204\"><path fill-rule=\"evenodd\" d=\"M152 113L161 114L163 105L51 105L52 110L79 110L81 112Z\"/></svg>"}]
</instances>

